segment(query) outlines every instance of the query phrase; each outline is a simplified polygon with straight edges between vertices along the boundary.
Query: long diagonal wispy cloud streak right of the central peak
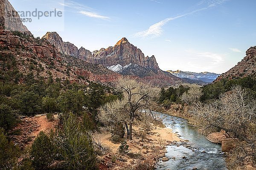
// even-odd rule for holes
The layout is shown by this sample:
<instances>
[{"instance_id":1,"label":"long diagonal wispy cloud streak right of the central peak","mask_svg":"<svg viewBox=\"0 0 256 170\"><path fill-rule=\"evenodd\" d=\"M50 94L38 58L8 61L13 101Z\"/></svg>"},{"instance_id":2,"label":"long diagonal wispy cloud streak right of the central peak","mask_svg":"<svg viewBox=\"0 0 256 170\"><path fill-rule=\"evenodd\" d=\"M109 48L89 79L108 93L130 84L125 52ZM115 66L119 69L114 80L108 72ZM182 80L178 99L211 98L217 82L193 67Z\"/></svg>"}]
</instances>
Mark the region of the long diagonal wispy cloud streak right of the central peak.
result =
<instances>
[{"instance_id":1,"label":"long diagonal wispy cloud streak right of the central peak","mask_svg":"<svg viewBox=\"0 0 256 170\"><path fill-rule=\"evenodd\" d=\"M169 17L169 18L166 18L164 20L161 20L158 23L155 23L152 26L150 26L147 30L137 32L135 34L135 37L149 37L149 36L157 37L157 36L160 36L163 33L163 26L166 23L168 23L169 21L176 20L178 18L185 17L187 15L194 14L194 13L199 12L199 11L207 10L208 8L212 8L212 7L215 7L215 6L217 6L221 3L224 3L224 1L226 1L226 0L202 0L199 5L207 3L206 7L198 8L196 10L187 12L185 14L178 15L176 17Z\"/></svg>"}]
</instances>

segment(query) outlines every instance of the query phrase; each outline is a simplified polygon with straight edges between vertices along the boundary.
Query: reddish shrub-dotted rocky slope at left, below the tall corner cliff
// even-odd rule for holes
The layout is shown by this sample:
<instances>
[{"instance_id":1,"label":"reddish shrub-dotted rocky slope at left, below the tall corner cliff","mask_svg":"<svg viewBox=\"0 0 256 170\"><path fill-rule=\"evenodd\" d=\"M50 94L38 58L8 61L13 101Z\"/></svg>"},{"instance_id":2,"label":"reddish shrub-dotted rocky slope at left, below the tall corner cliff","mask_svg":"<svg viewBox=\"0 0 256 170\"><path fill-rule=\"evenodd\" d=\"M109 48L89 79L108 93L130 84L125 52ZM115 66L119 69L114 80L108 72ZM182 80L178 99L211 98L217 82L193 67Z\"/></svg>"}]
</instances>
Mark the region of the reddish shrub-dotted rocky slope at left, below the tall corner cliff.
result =
<instances>
[{"instance_id":1,"label":"reddish shrub-dotted rocky slope at left, below the tall corner cliff","mask_svg":"<svg viewBox=\"0 0 256 170\"><path fill-rule=\"evenodd\" d=\"M29 74L47 79L49 73L53 79L68 79L70 82L85 84L87 80L113 82L121 77L102 65L91 64L73 56L67 57L44 39L0 29L0 63L10 62L10 57L17 67L15 69L24 75L18 80L20 82L25 81ZM4 65L0 64L1 73L14 69Z\"/></svg>"}]
</instances>

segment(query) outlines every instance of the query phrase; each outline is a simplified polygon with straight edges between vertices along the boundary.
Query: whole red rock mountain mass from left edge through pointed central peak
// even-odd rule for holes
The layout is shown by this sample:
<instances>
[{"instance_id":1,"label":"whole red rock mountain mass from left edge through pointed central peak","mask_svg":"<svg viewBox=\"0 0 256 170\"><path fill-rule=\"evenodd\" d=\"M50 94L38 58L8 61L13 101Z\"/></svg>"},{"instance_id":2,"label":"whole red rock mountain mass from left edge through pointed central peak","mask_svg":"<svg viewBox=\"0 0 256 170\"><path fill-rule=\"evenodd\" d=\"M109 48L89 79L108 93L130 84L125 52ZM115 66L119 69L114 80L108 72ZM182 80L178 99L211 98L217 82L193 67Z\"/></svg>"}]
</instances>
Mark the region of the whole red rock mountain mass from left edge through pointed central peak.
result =
<instances>
[{"instance_id":1,"label":"whole red rock mountain mass from left edge through pointed central peak","mask_svg":"<svg viewBox=\"0 0 256 170\"><path fill-rule=\"evenodd\" d=\"M90 52L64 42L56 32L47 32L41 39L35 38L20 22L18 13L9 2L1 0L0 8L0 79L9 76L23 82L28 77L47 79L52 76L62 81L87 83L87 80L113 82L125 76L159 86L182 81L160 70L154 56L145 57L126 38L114 46ZM15 16L10 17L19 20L10 23L5 11L13 11ZM10 66L8 63L14 64ZM116 65L122 71L108 69Z\"/></svg>"}]
</instances>

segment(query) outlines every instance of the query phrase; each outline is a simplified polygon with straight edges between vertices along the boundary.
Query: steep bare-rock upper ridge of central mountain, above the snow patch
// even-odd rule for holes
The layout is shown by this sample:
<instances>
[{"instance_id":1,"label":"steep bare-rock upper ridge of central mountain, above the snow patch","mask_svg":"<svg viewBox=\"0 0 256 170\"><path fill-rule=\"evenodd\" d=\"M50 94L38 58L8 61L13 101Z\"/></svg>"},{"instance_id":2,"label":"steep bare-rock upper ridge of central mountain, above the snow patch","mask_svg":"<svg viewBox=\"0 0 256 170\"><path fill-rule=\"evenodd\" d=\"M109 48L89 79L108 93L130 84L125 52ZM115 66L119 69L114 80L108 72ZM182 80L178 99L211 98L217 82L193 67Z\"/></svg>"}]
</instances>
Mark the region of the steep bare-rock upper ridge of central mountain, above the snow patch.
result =
<instances>
[{"instance_id":1,"label":"steep bare-rock upper ridge of central mountain, above the snow patch","mask_svg":"<svg viewBox=\"0 0 256 170\"><path fill-rule=\"evenodd\" d=\"M101 48L93 52L83 47L78 50L72 43L63 42L56 32L47 32L42 38L49 41L62 54L79 57L86 62L102 64L106 67L118 64L125 66L131 63L145 68L159 69L154 56L145 57L142 51L128 42L126 38L119 40L113 47Z\"/></svg>"}]
</instances>

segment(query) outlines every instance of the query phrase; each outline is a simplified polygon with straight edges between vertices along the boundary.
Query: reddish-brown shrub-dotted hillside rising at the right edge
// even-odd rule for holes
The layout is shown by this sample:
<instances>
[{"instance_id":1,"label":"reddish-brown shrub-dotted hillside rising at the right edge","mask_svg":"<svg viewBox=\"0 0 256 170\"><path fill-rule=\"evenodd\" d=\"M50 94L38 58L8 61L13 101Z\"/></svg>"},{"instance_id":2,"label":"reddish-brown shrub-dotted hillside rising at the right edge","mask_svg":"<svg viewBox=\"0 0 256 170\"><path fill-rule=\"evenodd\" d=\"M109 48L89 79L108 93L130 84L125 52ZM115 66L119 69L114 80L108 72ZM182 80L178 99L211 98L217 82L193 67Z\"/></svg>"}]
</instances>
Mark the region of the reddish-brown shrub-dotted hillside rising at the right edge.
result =
<instances>
[{"instance_id":1,"label":"reddish-brown shrub-dotted hillside rising at the right edge","mask_svg":"<svg viewBox=\"0 0 256 170\"><path fill-rule=\"evenodd\" d=\"M221 79L236 79L237 77L251 76L256 78L256 46L246 51L246 56L236 66L226 73L221 74L216 81Z\"/></svg>"}]
</instances>

